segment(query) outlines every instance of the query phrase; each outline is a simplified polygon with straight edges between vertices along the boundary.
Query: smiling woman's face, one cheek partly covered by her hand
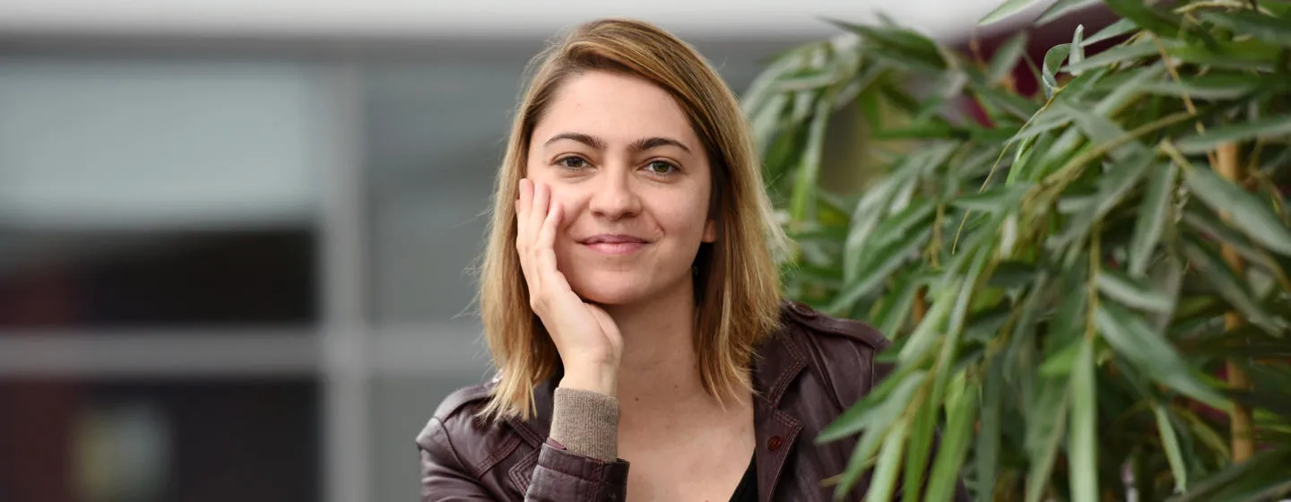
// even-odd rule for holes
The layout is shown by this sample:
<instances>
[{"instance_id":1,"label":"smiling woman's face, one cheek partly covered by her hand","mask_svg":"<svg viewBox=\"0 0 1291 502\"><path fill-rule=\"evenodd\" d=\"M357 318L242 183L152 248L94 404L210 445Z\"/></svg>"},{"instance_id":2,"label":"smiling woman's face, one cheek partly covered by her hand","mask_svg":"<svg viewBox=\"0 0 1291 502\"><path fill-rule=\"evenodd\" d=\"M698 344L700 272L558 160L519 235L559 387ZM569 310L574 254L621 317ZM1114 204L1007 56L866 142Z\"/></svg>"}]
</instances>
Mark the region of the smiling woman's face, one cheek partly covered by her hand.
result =
<instances>
[{"instance_id":1,"label":"smiling woman's face, one cheek partly covered by her hand","mask_svg":"<svg viewBox=\"0 0 1291 502\"><path fill-rule=\"evenodd\" d=\"M691 265L717 239L711 170L671 95L620 74L569 77L529 138L527 176L563 209L556 267L605 305L691 294Z\"/></svg>"}]
</instances>

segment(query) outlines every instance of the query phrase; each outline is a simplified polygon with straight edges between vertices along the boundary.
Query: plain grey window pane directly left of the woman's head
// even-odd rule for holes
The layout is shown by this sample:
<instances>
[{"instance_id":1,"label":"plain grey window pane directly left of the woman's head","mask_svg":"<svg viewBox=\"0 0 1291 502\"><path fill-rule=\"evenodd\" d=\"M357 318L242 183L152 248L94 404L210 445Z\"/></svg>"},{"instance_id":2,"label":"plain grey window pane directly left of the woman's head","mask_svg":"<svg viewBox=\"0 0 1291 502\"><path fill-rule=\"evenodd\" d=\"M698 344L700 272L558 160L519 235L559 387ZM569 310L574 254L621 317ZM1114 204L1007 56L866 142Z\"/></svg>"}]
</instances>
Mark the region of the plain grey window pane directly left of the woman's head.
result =
<instances>
[{"instance_id":1,"label":"plain grey window pane directly left of the woman's head","mask_svg":"<svg viewBox=\"0 0 1291 502\"><path fill-rule=\"evenodd\" d=\"M540 48L368 67L378 324L448 320L470 306L475 288L466 270L480 254L507 116L524 63Z\"/></svg>"}]
</instances>

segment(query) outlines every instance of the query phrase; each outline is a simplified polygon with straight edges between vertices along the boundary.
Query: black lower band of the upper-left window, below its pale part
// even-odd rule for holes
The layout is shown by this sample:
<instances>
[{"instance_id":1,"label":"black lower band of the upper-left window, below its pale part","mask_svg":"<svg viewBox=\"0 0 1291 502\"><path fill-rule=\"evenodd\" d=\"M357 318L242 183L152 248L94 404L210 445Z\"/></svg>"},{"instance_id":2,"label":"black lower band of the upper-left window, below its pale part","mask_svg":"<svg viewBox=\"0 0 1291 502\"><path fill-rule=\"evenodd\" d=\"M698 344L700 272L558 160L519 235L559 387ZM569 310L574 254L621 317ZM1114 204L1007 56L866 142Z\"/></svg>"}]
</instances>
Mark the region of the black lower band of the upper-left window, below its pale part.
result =
<instances>
[{"instance_id":1,"label":"black lower band of the upper-left window, below its pale part","mask_svg":"<svg viewBox=\"0 0 1291 502\"><path fill-rule=\"evenodd\" d=\"M314 263L309 230L0 230L0 330L306 325Z\"/></svg>"}]
</instances>

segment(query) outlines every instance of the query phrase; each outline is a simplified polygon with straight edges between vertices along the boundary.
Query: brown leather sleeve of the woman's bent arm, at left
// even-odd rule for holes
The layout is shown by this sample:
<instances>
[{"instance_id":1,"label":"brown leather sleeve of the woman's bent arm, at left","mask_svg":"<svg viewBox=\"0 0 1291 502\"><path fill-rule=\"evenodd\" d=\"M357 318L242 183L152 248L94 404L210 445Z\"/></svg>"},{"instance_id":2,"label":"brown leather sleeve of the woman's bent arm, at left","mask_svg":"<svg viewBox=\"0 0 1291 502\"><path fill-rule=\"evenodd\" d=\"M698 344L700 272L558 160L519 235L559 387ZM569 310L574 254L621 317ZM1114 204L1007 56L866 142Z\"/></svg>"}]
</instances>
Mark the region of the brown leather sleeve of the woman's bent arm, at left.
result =
<instances>
[{"instance_id":1,"label":"brown leather sleeve of the woman's bent arm, at left","mask_svg":"<svg viewBox=\"0 0 1291 502\"><path fill-rule=\"evenodd\" d=\"M494 501L458 457L442 421L431 419L417 436L417 448L422 502ZM580 456L549 440L524 492L529 502L620 502L627 493L627 462Z\"/></svg>"}]
</instances>

